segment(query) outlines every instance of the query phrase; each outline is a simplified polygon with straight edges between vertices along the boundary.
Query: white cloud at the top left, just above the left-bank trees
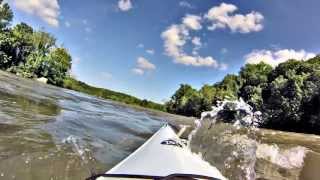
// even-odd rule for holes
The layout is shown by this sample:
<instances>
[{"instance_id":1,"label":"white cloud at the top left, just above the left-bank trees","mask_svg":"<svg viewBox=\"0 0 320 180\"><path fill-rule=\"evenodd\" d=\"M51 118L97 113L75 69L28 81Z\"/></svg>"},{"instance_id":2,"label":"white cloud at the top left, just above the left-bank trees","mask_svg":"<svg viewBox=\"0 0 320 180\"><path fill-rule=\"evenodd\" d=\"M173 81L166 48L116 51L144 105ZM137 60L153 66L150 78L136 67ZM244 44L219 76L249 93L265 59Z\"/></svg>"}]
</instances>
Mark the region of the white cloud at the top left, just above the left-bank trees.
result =
<instances>
[{"instance_id":1,"label":"white cloud at the top left, just above the left-bank trees","mask_svg":"<svg viewBox=\"0 0 320 180\"><path fill-rule=\"evenodd\" d=\"M59 26L58 0L13 0L13 2L17 9L36 15L51 26Z\"/></svg>"}]
</instances>

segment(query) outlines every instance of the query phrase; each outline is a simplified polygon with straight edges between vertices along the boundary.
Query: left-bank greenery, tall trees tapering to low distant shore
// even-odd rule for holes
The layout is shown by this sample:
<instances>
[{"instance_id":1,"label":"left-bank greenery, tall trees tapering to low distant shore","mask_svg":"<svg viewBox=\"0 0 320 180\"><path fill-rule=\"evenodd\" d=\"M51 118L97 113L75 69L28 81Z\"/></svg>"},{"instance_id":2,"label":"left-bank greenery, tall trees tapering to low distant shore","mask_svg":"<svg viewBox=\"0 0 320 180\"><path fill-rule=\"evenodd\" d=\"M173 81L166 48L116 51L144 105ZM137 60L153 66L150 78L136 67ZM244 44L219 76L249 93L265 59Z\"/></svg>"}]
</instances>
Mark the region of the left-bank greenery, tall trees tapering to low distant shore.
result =
<instances>
[{"instance_id":1,"label":"left-bank greenery, tall trees tapering to low distant shore","mask_svg":"<svg viewBox=\"0 0 320 180\"><path fill-rule=\"evenodd\" d=\"M101 98L165 111L161 104L76 80L69 73L71 55L66 48L57 45L54 36L34 30L23 22L10 26L13 12L3 0L0 0L0 15L0 70Z\"/></svg>"}]
</instances>

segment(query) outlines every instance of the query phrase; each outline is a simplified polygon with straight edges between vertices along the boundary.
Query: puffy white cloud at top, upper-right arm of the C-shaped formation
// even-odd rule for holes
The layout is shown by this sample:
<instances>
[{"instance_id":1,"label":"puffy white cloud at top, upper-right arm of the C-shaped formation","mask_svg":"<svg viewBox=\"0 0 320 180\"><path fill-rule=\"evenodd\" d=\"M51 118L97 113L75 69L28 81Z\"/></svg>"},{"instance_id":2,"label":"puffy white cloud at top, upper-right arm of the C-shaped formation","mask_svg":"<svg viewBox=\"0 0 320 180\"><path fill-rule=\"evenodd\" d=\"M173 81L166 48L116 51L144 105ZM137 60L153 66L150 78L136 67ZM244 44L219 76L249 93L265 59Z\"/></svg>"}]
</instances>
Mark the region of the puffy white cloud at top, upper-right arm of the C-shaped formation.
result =
<instances>
[{"instance_id":1,"label":"puffy white cloud at top, upper-right arm of the C-shaped formation","mask_svg":"<svg viewBox=\"0 0 320 180\"><path fill-rule=\"evenodd\" d=\"M257 32L263 29L263 15L259 12L252 11L248 14L233 14L238 8L233 4L221 3L219 6L212 7L205 18L212 25L209 30L217 28L230 28L232 32L249 33Z\"/></svg>"}]
</instances>

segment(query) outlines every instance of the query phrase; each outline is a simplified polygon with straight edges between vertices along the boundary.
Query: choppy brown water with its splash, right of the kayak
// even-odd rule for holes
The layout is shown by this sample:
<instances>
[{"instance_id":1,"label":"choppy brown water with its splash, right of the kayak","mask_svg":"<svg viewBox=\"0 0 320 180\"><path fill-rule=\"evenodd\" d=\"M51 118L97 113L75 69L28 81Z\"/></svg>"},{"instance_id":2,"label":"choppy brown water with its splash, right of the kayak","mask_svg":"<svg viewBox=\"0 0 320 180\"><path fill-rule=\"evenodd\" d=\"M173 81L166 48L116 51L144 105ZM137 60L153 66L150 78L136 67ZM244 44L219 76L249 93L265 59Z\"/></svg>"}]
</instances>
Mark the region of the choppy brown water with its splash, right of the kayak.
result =
<instances>
[{"instance_id":1,"label":"choppy brown water with its splash, right of the kayak","mask_svg":"<svg viewBox=\"0 0 320 180\"><path fill-rule=\"evenodd\" d=\"M196 121L190 147L230 179L319 180L320 136L256 128L260 115L241 99L223 101Z\"/></svg>"}]
</instances>

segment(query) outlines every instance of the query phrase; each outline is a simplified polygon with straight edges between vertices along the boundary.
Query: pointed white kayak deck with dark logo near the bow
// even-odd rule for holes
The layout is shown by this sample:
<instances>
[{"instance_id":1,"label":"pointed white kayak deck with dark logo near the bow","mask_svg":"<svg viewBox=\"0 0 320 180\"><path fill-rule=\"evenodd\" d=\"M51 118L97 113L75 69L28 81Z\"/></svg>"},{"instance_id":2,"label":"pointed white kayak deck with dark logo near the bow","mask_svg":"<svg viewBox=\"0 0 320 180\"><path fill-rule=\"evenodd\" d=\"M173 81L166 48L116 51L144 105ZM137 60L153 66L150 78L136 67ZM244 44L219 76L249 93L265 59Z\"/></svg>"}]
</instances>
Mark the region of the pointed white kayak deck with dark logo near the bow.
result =
<instances>
[{"instance_id":1,"label":"pointed white kayak deck with dark logo near the bow","mask_svg":"<svg viewBox=\"0 0 320 180\"><path fill-rule=\"evenodd\" d=\"M160 128L147 142L106 174L150 177L193 174L225 179L217 168L181 144L169 125Z\"/></svg>"}]
</instances>

